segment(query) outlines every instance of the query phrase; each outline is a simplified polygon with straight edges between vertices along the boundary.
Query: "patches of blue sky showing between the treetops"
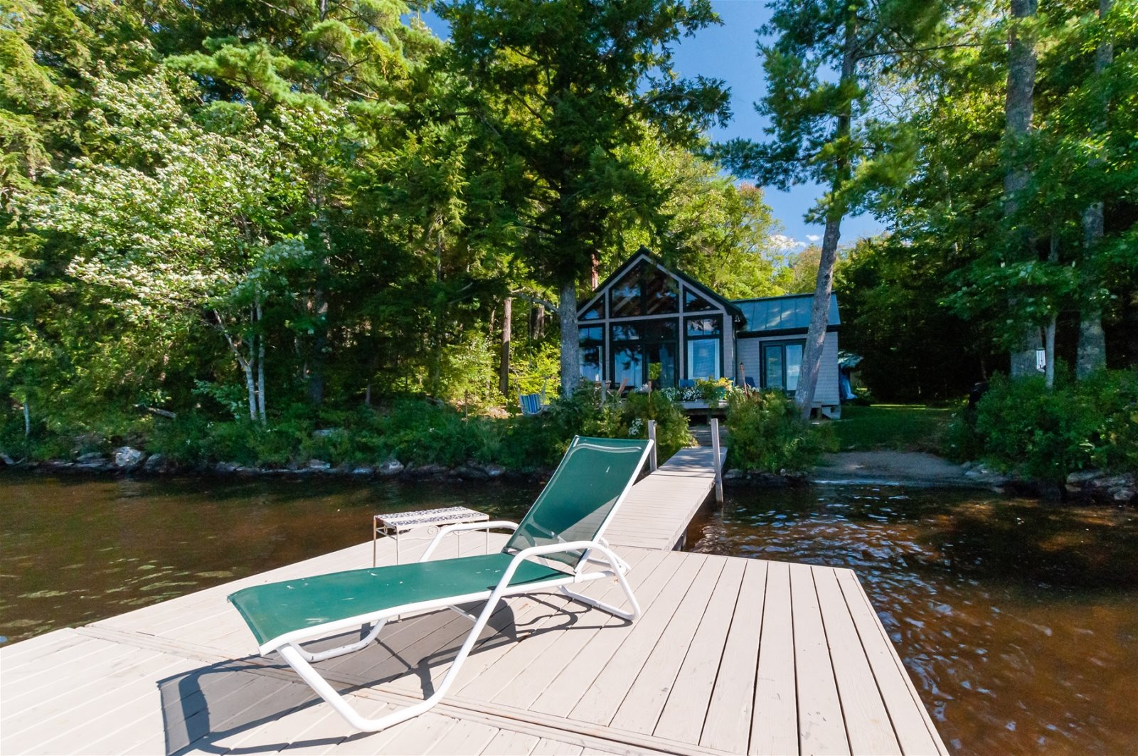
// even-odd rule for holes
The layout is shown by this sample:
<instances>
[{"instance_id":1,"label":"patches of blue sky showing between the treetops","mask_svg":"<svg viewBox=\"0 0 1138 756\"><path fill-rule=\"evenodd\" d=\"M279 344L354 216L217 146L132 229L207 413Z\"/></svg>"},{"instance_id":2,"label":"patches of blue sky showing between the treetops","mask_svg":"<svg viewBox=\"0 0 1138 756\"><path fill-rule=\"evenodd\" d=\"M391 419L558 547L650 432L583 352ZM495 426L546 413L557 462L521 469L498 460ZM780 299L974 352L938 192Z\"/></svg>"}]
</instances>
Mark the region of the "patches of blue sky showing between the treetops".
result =
<instances>
[{"instance_id":1,"label":"patches of blue sky showing between the treetops","mask_svg":"<svg viewBox=\"0 0 1138 756\"><path fill-rule=\"evenodd\" d=\"M756 30L769 17L766 0L712 0L711 5L723 19L723 26L714 26L685 39L676 47L675 66L684 76L710 76L721 79L731 88L731 123L723 129L712 129L716 140L735 137L761 139L766 118L754 112L766 89L762 66L756 50ZM450 36L446 24L434 14L423 14L423 20L436 34ZM802 215L822 195L816 184L792 187L790 191L766 189L767 203L775 217L782 223L784 233L803 244L820 241L822 227L808 224ZM842 244L853 244L863 236L872 236L882 225L869 215L847 217L842 221Z\"/></svg>"}]
</instances>

